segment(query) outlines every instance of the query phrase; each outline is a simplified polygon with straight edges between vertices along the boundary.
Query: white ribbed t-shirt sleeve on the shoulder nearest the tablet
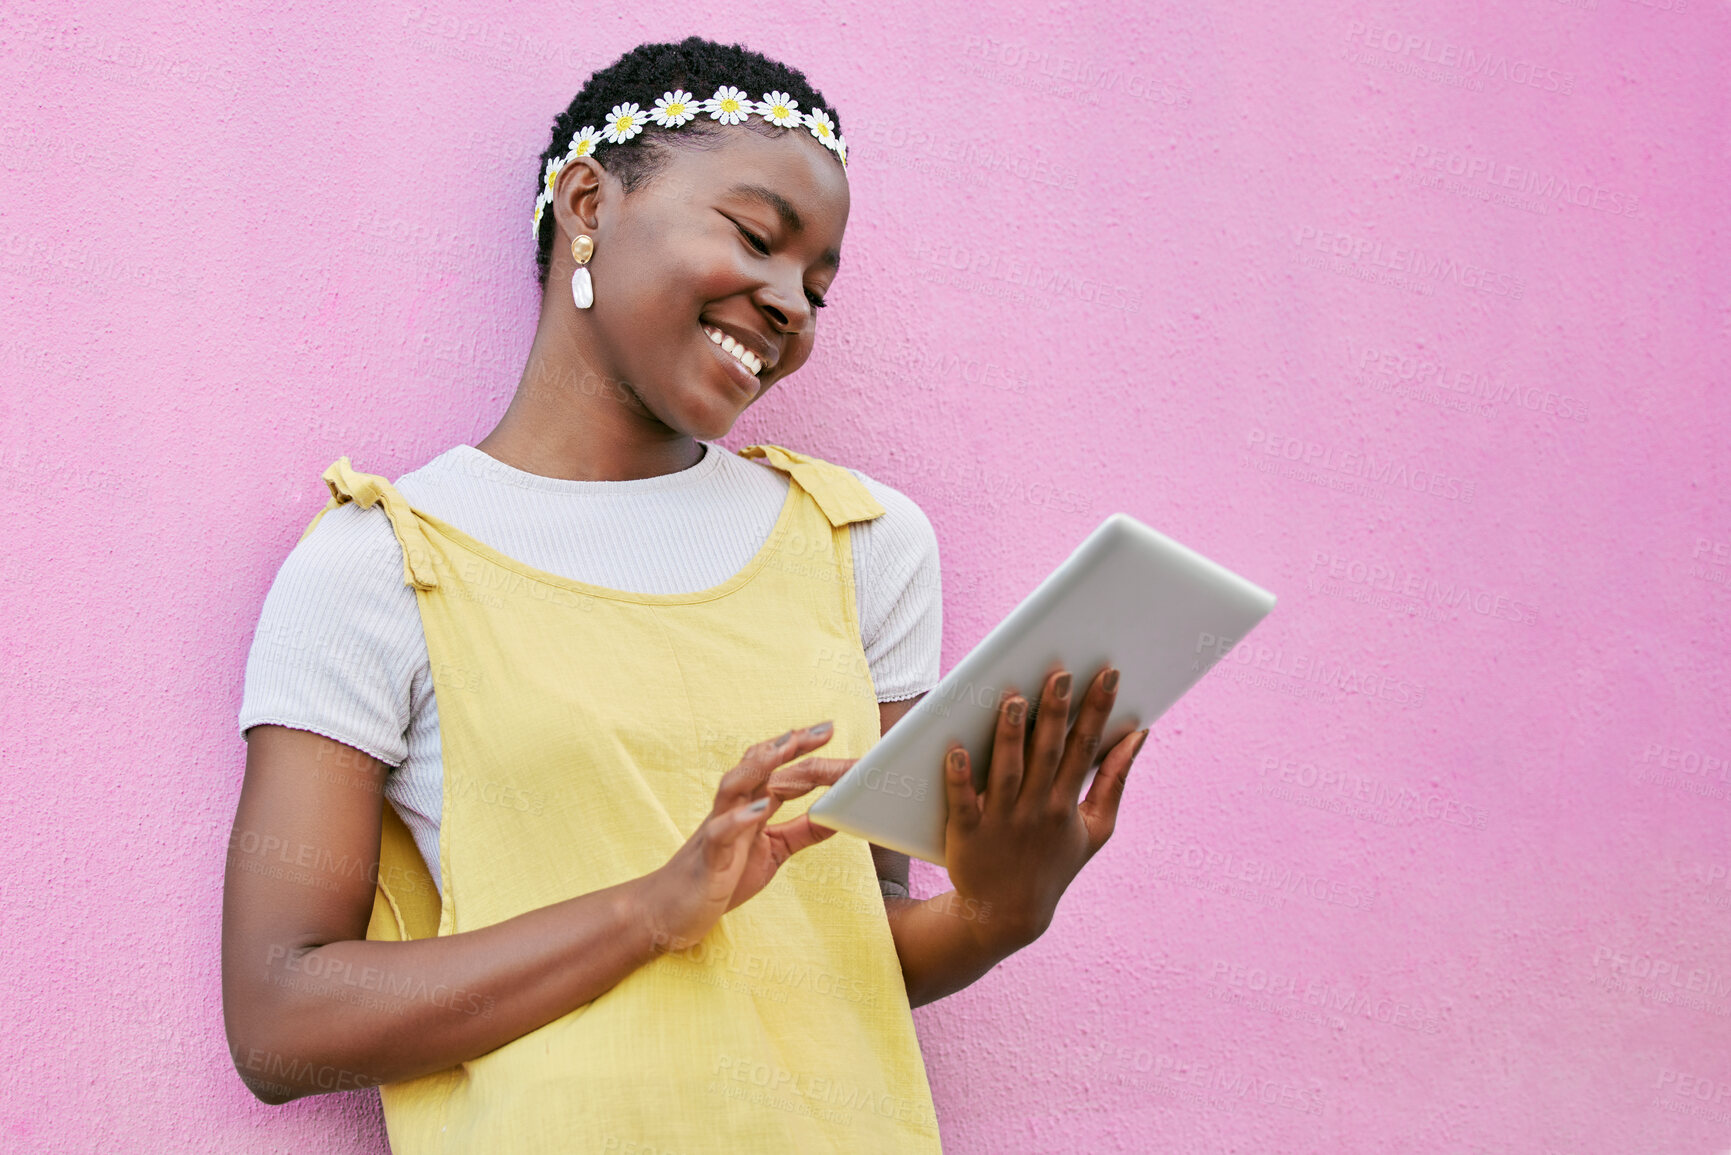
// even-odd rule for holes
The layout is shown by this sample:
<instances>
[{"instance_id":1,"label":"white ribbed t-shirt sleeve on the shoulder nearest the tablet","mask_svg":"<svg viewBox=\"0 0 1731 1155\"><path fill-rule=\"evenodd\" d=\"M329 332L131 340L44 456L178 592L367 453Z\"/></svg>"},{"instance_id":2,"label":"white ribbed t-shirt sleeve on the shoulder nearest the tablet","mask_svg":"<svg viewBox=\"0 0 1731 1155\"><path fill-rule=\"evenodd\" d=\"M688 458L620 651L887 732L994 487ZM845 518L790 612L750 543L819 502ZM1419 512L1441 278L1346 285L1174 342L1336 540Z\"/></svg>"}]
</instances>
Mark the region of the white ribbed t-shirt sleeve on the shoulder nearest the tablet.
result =
<instances>
[{"instance_id":1,"label":"white ribbed t-shirt sleeve on the shoulder nearest the tablet","mask_svg":"<svg viewBox=\"0 0 1731 1155\"><path fill-rule=\"evenodd\" d=\"M860 641L878 701L900 701L938 684L943 648L938 535L914 499L859 469L852 473L885 509L881 518L853 525Z\"/></svg>"}]
</instances>

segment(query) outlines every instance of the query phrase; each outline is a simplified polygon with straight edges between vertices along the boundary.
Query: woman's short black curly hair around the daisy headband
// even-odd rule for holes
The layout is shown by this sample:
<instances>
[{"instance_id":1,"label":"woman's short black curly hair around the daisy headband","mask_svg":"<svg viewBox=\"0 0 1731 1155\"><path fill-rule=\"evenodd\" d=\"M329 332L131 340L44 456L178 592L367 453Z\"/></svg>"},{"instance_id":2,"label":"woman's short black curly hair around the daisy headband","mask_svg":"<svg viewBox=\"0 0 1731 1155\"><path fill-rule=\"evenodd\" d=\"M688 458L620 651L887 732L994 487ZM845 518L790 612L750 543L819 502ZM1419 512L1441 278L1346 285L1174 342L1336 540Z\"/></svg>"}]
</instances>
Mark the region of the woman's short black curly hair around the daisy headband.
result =
<instances>
[{"instance_id":1,"label":"woman's short black curly hair around the daisy headband","mask_svg":"<svg viewBox=\"0 0 1731 1155\"><path fill-rule=\"evenodd\" d=\"M615 104L635 100L651 107L663 92L684 88L705 100L722 85L744 88L753 99L765 92L786 92L801 109L824 109L841 135L841 118L824 100L824 94L805 80L805 73L751 52L744 45L720 45L703 36L685 36L679 43L640 43L613 64L595 71L583 88L552 121L552 140L535 166L535 196L540 196L547 161L563 159L571 147L571 137L585 125L604 125ZM781 137L795 128L779 128L751 116L739 123L765 137ZM608 144L595 154L595 163L618 177L625 192L635 192L666 168L668 145L713 147L722 125L708 116L687 121L675 132L651 125L623 144ZM552 265L552 211L542 213L540 232L535 234L535 270L542 289L547 287L547 268Z\"/></svg>"}]
</instances>

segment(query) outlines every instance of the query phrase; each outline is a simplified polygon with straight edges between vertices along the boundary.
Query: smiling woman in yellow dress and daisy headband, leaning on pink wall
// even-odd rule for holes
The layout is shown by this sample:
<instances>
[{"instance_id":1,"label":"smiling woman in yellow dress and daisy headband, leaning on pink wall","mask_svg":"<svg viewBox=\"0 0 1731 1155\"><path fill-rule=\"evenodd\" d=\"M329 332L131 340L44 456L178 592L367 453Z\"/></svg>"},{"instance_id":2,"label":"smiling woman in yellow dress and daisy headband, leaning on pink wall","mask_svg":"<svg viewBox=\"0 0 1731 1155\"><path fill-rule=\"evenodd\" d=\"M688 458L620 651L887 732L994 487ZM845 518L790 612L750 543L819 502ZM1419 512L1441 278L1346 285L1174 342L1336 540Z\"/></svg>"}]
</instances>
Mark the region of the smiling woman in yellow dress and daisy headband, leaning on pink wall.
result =
<instances>
[{"instance_id":1,"label":"smiling woman in yellow dress and daisy headband, leaning on pink wall","mask_svg":"<svg viewBox=\"0 0 1731 1155\"><path fill-rule=\"evenodd\" d=\"M383 1086L396 1152L938 1150L909 1008L1044 932L1146 731L1097 758L1115 670L1032 726L1006 694L924 902L803 817L936 681L919 509L708 443L812 353L845 165L801 73L628 52L554 123L499 426L325 471L241 713L223 1011L261 1100Z\"/></svg>"}]
</instances>

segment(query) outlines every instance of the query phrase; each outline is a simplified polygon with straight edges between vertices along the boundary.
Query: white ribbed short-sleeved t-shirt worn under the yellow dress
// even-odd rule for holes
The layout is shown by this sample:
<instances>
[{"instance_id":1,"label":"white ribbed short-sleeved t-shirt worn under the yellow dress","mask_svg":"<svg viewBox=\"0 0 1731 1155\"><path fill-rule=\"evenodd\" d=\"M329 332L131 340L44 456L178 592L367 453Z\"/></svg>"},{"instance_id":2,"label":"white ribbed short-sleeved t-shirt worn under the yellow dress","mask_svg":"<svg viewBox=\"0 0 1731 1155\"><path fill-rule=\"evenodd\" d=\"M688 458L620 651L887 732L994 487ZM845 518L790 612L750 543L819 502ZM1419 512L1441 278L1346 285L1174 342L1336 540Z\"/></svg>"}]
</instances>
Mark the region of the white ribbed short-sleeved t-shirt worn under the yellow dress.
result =
<instances>
[{"instance_id":1,"label":"white ribbed short-sleeved t-shirt worn under the yellow dress","mask_svg":"<svg viewBox=\"0 0 1731 1155\"><path fill-rule=\"evenodd\" d=\"M789 485L756 459L703 445L689 469L637 481L544 478L457 445L396 488L537 570L635 594L691 594L756 556ZM898 701L938 682L938 539L909 497L852 473L885 507L852 526L860 642L878 700ZM381 506L332 509L277 571L241 698L241 732L261 724L313 731L393 767L384 797L443 885L438 703L421 610Z\"/></svg>"}]
</instances>

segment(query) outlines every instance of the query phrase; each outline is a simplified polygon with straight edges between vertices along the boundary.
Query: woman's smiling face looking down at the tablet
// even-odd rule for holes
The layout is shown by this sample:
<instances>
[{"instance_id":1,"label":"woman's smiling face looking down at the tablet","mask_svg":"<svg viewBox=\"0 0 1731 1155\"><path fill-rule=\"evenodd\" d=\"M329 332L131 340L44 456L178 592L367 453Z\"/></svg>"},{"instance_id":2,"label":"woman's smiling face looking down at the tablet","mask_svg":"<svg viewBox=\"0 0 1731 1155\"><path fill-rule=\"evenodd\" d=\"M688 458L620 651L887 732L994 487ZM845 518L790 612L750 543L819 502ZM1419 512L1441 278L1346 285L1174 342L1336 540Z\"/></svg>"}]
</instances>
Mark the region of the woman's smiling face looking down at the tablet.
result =
<instances>
[{"instance_id":1,"label":"woman's smiling face looking down at the tablet","mask_svg":"<svg viewBox=\"0 0 1731 1155\"><path fill-rule=\"evenodd\" d=\"M544 324L549 308L568 313L557 320L583 360L640 417L715 440L812 355L848 182L807 132L720 128L699 144L670 145L665 168L632 194L592 158L566 165ZM566 287L578 234L595 242L587 310Z\"/></svg>"}]
</instances>

